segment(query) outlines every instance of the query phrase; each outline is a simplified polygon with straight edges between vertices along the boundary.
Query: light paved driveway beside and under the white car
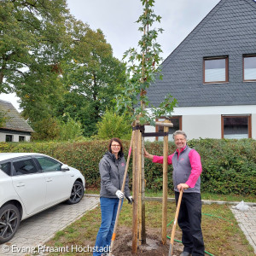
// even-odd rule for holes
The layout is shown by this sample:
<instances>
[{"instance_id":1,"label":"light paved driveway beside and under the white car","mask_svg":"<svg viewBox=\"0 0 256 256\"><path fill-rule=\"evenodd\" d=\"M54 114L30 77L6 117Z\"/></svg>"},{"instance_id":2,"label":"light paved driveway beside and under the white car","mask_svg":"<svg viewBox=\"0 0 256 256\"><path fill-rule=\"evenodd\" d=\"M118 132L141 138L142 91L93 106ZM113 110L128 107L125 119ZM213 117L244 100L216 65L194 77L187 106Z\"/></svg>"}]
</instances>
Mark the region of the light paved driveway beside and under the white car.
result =
<instances>
[{"instance_id":1,"label":"light paved driveway beside and under the white car","mask_svg":"<svg viewBox=\"0 0 256 256\"><path fill-rule=\"evenodd\" d=\"M0 245L0 255L22 256L33 251L44 242L55 236L58 230L63 230L67 225L82 217L84 212L95 208L99 197L84 196L83 200L76 205L61 203L40 212L31 218L26 218L20 223L20 228L15 237Z\"/></svg>"}]
</instances>

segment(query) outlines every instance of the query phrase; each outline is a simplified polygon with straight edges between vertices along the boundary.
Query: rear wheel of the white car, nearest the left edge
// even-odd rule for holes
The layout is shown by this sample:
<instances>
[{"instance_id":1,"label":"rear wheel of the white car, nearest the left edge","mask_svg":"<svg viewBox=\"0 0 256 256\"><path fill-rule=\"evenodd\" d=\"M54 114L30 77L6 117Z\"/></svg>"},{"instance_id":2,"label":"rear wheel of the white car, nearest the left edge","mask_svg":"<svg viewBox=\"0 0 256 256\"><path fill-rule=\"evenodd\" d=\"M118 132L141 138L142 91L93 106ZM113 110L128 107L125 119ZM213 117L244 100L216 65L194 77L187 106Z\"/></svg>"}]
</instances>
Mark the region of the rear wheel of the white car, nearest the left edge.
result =
<instances>
[{"instance_id":1,"label":"rear wheel of the white car, nearest the left edge","mask_svg":"<svg viewBox=\"0 0 256 256\"><path fill-rule=\"evenodd\" d=\"M14 205L0 208L0 243L4 243L15 236L20 225L20 212Z\"/></svg>"}]
</instances>

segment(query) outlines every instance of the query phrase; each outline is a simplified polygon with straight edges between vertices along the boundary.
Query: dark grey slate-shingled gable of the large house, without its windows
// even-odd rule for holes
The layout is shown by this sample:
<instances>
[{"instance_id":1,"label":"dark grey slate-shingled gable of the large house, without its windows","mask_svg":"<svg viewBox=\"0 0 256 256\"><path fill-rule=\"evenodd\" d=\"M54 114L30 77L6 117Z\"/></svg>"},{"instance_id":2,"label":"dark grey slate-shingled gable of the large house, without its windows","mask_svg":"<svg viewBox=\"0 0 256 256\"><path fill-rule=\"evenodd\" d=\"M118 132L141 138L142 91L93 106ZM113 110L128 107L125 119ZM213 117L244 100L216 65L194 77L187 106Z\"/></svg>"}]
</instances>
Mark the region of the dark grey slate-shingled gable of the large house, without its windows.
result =
<instances>
[{"instance_id":1,"label":"dark grey slate-shingled gable of the large house, without its windows","mask_svg":"<svg viewBox=\"0 0 256 256\"><path fill-rule=\"evenodd\" d=\"M255 105L256 82L242 81L244 54L256 54L256 3L221 0L162 63L163 80L149 87L150 102L158 106L170 93L179 107ZM229 83L203 84L203 58L223 55Z\"/></svg>"}]
</instances>

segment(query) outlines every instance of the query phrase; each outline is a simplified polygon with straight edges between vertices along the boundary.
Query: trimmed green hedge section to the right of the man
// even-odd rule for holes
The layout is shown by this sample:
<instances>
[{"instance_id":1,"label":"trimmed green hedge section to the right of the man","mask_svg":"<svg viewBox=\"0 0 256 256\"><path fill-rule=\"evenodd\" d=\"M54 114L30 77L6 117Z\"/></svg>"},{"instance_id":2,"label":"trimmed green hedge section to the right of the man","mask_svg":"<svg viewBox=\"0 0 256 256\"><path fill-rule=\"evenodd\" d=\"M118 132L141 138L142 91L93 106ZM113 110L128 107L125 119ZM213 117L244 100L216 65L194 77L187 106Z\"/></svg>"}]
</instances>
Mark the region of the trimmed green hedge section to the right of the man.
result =
<instances>
[{"instance_id":1,"label":"trimmed green hedge section to the right of the man","mask_svg":"<svg viewBox=\"0 0 256 256\"><path fill-rule=\"evenodd\" d=\"M204 139L189 142L201 154L201 188L219 194L255 194L256 142Z\"/></svg>"}]
</instances>

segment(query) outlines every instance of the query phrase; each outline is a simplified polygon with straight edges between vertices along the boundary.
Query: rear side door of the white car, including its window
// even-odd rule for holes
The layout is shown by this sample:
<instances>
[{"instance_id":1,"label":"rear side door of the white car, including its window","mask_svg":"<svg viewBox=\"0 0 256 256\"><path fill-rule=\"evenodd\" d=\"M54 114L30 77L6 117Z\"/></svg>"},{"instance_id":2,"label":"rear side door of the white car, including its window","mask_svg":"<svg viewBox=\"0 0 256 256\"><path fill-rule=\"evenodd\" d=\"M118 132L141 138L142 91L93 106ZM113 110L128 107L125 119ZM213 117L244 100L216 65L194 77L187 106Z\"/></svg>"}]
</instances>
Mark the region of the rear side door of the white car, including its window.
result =
<instances>
[{"instance_id":1,"label":"rear side door of the white car, including its window","mask_svg":"<svg viewBox=\"0 0 256 256\"><path fill-rule=\"evenodd\" d=\"M16 193L30 215L44 209L46 183L44 173L40 172L31 156L12 161L12 182Z\"/></svg>"}]
</instances>

